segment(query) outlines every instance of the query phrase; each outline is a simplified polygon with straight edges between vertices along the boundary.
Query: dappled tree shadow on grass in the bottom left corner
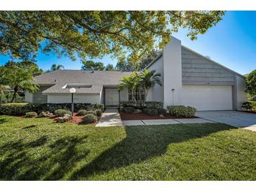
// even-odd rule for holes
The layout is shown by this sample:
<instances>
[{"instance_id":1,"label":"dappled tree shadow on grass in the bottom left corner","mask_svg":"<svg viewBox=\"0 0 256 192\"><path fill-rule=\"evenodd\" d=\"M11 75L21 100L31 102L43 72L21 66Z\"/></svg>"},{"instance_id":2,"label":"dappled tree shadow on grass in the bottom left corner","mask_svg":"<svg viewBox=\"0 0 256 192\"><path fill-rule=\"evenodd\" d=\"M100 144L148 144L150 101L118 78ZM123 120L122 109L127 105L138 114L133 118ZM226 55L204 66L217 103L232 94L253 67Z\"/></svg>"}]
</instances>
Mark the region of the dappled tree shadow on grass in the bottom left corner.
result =
<instances>
[{"instance_id":1,"label":"dappled tree shadow on grass in the bottom left corner","mask_svg":"<svg viewBox=\"0 0 256 192\"><path fill-rule=\"evenodd\" d=\"M75 163L85 158L88 151L76 153L76 145L84 143L86 136L62 137L48 145L45 155L33 159L32 148L48 142L47 136L25 143L22 139L0 146L0 180L58 180L69 172Z\"/></svg>"}]
</instances>

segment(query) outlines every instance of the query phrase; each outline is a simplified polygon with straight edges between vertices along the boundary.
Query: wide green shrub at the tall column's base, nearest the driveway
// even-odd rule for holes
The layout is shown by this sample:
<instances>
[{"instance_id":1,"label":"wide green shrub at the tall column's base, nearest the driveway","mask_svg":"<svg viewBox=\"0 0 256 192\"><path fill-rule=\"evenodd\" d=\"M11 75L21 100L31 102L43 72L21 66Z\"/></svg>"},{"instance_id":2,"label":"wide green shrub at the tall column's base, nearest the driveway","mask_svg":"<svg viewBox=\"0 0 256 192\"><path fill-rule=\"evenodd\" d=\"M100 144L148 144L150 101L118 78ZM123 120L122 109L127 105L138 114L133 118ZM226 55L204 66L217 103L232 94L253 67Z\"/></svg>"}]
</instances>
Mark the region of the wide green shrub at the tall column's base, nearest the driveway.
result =
<instances>
[{"instance_id":1,"label":"wide green shrub at the tall column's base, nearest the driveway","mask_svg":"<svg viewBox=\"0 0 256 192\"><path fill-rule=\"evenodd\" d=\"M177 117L192 117L196 113L196 109L194 107L185 107L183 105L168 106L167 109L171 116Z\"/></svg>"}]
</instances>

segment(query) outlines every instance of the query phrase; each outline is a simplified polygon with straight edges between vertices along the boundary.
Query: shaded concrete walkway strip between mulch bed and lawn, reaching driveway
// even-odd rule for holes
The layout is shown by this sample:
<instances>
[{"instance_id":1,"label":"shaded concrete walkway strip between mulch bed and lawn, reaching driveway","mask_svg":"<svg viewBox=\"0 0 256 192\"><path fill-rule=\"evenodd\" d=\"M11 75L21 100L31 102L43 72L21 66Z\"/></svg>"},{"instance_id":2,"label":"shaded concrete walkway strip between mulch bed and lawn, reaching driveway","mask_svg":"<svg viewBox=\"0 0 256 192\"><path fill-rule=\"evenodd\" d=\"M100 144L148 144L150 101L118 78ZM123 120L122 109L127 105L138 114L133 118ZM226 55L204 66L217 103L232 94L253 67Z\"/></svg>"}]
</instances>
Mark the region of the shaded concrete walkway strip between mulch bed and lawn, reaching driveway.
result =
<instances>
[{"instance_id":1,"label":"shaded concrete walkway strip between mulch bed and lawn, reaching driveway","mask_svg":"<svg viewBox=\"0 0 256 192\"><path fill-rule=\"evenodd\" d=\"M164 124L178 124L178 123L215 123L203 118L174 118L174 119L152 119L152 120L129 120L123 121L123 125L164 125Z\"/></svg>"}]
</instances>

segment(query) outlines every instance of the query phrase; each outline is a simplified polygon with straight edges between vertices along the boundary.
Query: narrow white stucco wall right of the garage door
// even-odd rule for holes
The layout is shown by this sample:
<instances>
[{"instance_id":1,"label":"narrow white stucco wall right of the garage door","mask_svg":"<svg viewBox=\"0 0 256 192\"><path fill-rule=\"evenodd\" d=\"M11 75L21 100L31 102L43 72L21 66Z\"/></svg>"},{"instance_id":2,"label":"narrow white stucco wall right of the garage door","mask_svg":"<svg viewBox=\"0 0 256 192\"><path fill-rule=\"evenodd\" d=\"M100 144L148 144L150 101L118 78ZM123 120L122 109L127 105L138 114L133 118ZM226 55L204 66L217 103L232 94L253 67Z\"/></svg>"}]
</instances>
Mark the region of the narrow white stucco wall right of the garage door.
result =
<instances>
[{"instance_id":1,"label":"narrow white stucco wall right of the garage door","mask_svg":"<svg viewBox=\"0 0 256 192\"><path fill-rule=\"evenodd\" d=\"M245 78L236 76L236 109L241 110L243 102L247 101L247 94L245 92L246 83Z\"/></svg>"}]
</instances>

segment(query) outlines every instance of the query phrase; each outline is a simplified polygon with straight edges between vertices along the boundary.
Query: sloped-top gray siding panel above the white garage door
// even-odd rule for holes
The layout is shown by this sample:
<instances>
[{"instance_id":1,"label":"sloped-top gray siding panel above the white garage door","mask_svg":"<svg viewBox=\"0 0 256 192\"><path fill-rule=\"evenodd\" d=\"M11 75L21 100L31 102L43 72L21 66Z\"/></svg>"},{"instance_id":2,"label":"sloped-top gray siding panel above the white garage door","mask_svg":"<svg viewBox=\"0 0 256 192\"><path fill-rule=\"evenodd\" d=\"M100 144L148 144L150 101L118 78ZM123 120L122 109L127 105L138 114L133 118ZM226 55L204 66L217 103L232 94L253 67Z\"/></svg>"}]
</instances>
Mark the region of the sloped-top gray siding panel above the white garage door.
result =
<instances>
[{"instance_id":1,"label":"sloped-top gray siding panel above the white garage door","mask_svg":"<svg viewBox=\"0 0 256 192\"><path fill-rule=\"evenodd\" d=\"M234 85L235 74L182 46L183 85Z\"/></svg>"}]
</instances>

